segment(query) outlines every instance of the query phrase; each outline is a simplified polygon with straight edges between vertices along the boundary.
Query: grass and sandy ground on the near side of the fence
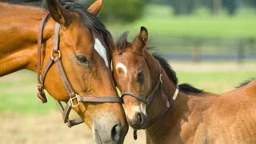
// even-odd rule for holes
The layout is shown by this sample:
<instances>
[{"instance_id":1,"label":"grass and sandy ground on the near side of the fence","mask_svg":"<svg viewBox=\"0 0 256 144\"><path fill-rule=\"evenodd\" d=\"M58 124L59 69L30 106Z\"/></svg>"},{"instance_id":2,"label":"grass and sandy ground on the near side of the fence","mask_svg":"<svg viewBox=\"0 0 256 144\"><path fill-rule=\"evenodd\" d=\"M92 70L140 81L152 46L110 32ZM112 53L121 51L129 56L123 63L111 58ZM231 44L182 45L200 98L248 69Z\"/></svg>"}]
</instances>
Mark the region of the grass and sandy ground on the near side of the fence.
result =
<instances>
[{"instance_id":1,"label":"grass and sandy ground on the near side of the fence","mask_svg":"<svg viewBox=\"0 0 256 144\"><path fill-rule=\"evenodd\" d=\"M170 62L179 83L188 82L199 89L222 93L234 90L240 82L256 77L256 62ZM0 143L93 143L91 131L84 124L68 128L53 99L42 104L36 96L36 74L21 70L0 78ZM43 136L42 136L43 135ZM143 130L134 141L129 130L125 144L145 142Z\"/></svg>"}]
</instances>

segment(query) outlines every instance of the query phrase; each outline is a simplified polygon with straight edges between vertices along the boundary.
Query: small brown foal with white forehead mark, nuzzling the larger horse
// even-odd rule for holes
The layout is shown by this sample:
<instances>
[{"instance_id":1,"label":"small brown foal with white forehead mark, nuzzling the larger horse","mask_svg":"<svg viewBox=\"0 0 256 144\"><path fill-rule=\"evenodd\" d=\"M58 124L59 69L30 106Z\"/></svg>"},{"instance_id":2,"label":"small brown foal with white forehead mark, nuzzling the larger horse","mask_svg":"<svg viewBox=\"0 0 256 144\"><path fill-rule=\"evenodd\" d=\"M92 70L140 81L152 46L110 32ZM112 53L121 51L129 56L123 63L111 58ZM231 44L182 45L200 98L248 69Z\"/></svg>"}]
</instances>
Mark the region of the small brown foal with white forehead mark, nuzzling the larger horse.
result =
<instances>
[{"instance_id":1,"label":"small brown foal with white forehead mark, nuzzling the larger horse","mask_svg":"<svg viewBox=\"0 0 256 144\"><path fill-rule=\"evenodd\" d=\"M113 52L114 79L128 123L146 129L147 143L256 143L256 80L225 94L178 85L166 60L146 49L146 28L131 43L127 34Z\"/></svg>"}]
</instances>

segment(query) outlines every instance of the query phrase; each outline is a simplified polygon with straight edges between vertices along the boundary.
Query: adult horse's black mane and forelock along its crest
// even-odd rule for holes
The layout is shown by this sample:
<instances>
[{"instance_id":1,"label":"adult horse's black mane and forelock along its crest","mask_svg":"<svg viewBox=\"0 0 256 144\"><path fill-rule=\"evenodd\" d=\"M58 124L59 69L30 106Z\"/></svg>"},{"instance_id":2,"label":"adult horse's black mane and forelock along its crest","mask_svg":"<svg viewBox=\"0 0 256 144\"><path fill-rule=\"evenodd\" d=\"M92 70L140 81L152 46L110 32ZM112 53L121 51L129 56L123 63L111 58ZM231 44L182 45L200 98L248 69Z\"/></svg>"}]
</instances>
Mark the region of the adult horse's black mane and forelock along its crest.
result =
<instances>
[{"instance_id":1,"label":"adult horse's black mane and forelock along its crest","mask_svg":"<svg viewBox=\"0 0 256 144\"><path fill-rule=\"evenodd\" d=\"M46 0L2 0L2 2L23 6L42 7L48 10ZM84 24L88 26L94 34L103 36L104 39L110 34L110 32L106 30L106 26L98 19L98 17L90 14L84 6L77 2L77 0L58 0L58 2L65 7L66 10L78 12Z\"/></svg>"}]
</instances>

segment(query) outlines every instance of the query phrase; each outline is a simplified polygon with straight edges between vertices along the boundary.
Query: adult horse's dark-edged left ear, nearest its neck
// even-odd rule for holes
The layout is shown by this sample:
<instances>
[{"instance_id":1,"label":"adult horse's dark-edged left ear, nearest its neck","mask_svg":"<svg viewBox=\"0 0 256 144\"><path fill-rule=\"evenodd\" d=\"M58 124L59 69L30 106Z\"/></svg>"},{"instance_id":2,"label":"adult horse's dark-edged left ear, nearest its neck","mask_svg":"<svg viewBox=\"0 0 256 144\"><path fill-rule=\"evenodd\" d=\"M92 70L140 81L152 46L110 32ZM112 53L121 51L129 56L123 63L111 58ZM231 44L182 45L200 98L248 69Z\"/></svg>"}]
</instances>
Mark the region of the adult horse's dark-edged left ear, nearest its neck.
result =
<instances>
[{"instance_id":1,"label":"adult horse's dark-edged left ear, nearest its neck","mask_svg":"<svg viewBox=\"0 0 256 144\"><path fill-rule=\"evenodd\" d=\"M61 6L56 0L47 0L47 7L54 21L63 26L70 26L72 17L68 10Z\"/></svg>"}]
</instances>

